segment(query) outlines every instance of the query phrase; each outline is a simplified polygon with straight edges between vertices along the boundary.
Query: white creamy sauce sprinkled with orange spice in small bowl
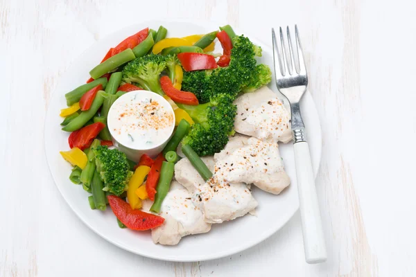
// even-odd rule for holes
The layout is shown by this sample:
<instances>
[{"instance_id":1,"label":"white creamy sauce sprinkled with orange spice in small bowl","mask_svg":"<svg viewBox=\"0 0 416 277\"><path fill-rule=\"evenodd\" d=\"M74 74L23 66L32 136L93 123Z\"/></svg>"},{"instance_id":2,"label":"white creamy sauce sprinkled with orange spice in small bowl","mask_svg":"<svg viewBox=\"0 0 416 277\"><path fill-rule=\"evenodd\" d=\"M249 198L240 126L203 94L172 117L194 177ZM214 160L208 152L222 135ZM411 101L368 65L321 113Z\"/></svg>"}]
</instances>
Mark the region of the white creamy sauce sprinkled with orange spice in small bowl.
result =
<instances>
[{"instance_id":1,"label":"white creamy sauce sprinkled with orange spice in small bowl","mask_svg":"<svg viewBox=\"0 0 416 277\"><path fill-rule=\"evenodd\" d=\"M173 109L162 96L131 91L114 102L107 124L114 139L128 148L146 150L169 139L175 127Z\"/></svg>"}]
</instances>

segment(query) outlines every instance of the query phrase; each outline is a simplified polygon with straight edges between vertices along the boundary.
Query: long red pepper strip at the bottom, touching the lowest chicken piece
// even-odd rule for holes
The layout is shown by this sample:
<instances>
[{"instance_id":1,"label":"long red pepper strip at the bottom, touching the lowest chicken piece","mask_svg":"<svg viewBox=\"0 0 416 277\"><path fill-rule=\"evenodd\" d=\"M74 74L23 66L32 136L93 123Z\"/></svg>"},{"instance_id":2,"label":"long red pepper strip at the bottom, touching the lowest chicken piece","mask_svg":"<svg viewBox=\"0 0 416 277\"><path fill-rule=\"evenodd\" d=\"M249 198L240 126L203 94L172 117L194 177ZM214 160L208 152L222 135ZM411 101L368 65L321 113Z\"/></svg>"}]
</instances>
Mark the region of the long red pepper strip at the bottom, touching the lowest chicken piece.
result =
<instances>
[{"instance_id":1,"label":"long red pepper strip at the bottom, touching the lowest chicken piece","mask_svg":"<svg viewBox=\"0 0 416 277\"><path fill-rule=\"evenodd\" d=\"M108 195L108 204L116 215L116 217L132 230L149 230L160 226L164 222L164 218L159 215L145 213L140 210L133 210L130 204L115 195Z\"/></svg>"}]
</instances>

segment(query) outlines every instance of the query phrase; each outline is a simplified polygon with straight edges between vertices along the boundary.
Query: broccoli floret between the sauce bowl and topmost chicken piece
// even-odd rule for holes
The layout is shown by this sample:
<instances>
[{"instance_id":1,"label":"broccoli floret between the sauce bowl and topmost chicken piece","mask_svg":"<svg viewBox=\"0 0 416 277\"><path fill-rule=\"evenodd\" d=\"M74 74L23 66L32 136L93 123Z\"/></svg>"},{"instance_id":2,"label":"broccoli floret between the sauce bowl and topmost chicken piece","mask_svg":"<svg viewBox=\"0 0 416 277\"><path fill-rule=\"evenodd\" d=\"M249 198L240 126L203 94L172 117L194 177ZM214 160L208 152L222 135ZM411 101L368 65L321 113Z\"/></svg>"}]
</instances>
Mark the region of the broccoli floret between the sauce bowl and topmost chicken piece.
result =
<instances>
[{"instance_id":1,"label":"broccoli floret between the sauce bowl and topmost chicken piece","mask_svg":"<svg viewBox=\"0 0 416 277\"><path fill-rule=\"evenodd\" d=\"M224 149L229 134L234 132L236 106L227 93L211 97L210 102L197 106L177 104L195 121L191 131L182 140L200 156L212 155Z\"/></svg>"}]
</instances>

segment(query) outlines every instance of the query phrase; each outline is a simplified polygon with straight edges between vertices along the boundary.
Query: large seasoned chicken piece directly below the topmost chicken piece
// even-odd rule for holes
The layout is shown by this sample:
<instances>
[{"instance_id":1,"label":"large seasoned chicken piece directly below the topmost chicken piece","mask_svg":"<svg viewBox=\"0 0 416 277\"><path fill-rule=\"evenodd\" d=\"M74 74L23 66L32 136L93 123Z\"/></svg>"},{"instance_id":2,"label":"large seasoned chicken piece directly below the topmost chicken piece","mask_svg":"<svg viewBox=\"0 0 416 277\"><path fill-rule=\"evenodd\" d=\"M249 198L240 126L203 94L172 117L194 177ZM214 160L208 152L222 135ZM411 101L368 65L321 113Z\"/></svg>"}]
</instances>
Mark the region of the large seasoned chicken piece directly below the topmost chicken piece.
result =
<instances>
[{"instance_id":1,"label":"large seasoned chicken piece directly below the topmost chicken piece","mask_svg":"<svg viewBox=\"0 0 416 277\"><path fill-rule=\"evenodd\" d=\"M268 143L256 138L250 138L245 143L243 141L230 141L231 146L214 155L216 176L231 183L254 184L261 190L275 195L291 184L284 171L277 143ZM236 148L238 145L240 146Z\"/></svg>"}]
</instances>

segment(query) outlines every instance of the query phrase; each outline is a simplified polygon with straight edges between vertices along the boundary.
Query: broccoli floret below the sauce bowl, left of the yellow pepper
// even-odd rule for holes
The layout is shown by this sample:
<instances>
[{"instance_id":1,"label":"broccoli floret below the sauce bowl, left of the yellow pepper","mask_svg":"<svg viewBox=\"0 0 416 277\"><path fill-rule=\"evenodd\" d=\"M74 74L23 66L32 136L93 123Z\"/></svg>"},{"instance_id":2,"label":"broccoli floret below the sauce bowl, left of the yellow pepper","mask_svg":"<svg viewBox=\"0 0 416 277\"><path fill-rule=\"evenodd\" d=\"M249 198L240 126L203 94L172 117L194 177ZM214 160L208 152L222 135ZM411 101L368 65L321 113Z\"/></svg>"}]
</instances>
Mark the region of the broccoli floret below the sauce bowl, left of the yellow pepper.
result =
<instances>
[{"instance_id":1,"label":"broccoli floret below the sauce bowl, left of the yellow pepper","mask_svg":"<svg viewBox=\"0 0 416 277\"><path fill-rule=\"evenodd\" d=\"M95 154L97 171L105 187L103 190L110 191L114 195L121 195L128 188L128 181L133 172L130 171L125 154L116 149L108 149L107 146L99 145L93 149Z\"/></svg>"}]
</instances>

